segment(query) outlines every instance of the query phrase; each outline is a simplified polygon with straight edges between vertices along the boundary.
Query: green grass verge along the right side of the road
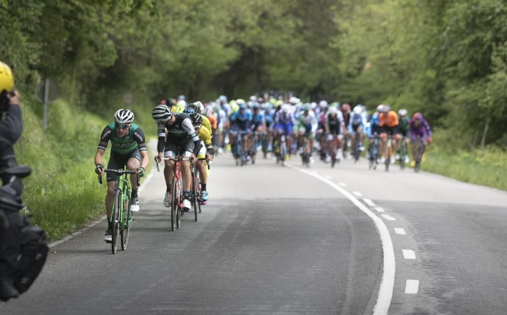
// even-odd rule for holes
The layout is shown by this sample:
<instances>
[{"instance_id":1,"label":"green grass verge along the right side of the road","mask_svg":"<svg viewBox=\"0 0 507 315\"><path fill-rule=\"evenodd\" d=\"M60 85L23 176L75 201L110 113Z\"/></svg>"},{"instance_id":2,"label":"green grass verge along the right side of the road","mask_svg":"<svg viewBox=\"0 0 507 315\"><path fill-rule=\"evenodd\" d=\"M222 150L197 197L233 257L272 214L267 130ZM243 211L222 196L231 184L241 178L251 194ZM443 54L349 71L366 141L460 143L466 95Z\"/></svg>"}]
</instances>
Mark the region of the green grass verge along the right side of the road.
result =
<instances>
[{"instance_id":1,"label":"green grass verge along the right side of the road","mask_svg":"<svg viewBox=\"0 0 507 315\"><path fill-rule=\"evenodd\" d=\"M498 148L484 150L445 150L430 145L421 170L468 183L507 190L507 152Z\"/></svg>"}]
</instances>

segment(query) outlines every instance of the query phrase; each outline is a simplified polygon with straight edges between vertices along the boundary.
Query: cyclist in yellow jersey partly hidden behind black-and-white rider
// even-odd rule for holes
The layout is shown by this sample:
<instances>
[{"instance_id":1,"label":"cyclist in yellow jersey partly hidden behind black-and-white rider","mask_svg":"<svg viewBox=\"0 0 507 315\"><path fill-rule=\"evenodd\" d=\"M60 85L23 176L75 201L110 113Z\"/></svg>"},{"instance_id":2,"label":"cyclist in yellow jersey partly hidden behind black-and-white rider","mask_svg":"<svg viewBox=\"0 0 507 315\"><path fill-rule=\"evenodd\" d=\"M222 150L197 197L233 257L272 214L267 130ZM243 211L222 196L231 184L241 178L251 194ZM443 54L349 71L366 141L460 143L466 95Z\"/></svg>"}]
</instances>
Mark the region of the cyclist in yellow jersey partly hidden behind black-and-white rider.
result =
<instances>
[{"instance_id":1,"label":"cyclist in yellow jersey partly hidden behind black-and-white rider","mask_svg":"<svg viewBox=\"0 0 507 315\"><path fill-rule=\"evenodd\" d=\"M208 191L206 190L208 173L206 172L206 163L204 162L204 159L207 161L212 161L214 149L213 145L211 144L211 134L202 125L202 116L194 112L190 115L190 120L192 121L192 125L194 126L197 136L201 140L201 144L204 144L199 150L199 154L197 154L196 168L199 170L201 180L201 200L202 204L205 205L208 201Z\"/></svg>"}]
</instances>

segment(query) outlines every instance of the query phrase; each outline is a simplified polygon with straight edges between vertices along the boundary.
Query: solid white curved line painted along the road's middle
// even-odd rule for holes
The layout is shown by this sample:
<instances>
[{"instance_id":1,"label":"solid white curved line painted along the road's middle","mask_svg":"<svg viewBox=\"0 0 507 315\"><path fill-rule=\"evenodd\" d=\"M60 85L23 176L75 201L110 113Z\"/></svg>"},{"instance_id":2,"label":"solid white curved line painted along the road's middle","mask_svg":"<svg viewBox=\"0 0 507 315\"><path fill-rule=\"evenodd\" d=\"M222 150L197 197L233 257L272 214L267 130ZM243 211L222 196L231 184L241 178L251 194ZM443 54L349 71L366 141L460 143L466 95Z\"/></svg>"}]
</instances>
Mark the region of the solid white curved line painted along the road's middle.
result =
<instances>
[{"instance_id":1,"label":"solid white curved line painted along the road's middle","mask_svg":"<svg viewBox=\"0 0 507 315\"><path fill-rule=\"evenodd\" d=\"M392 245L391 236L389 234L389 230L387 229L387 226L385 225L384 221L380 219L373 211L368 209L363 203L361 203L357 198L355 198L350 192L343 189L339 185L335 184L334 182L325 179L324 177L308 172L304 169L296 169L292 165L287 165L288 167L291 167L297 171L303 172L305 174L308 174L310 176L313 176L317 179L320 179L324 183L327 183L331 187L338 190L341 194L343 194L346 198L348 198L357 208L359 208L361 211L363 211L367 216L369 216L373 223L375 223L375 226L377 227L379 234L380 234L380 240L382 242L382 251L384 253L383 255L383 270L382 270L382 280L380 281L380 289L379 294L377 296L377 303L375 304L375 307L373 308L373 314L380 315L380 314L387 314L387 311L389 310L389 305L391 304L391 298L392 298L392 291L394 288L394 269L395 269L395 260L394 260L394 247Z\"/></svg>"}]
</instances>

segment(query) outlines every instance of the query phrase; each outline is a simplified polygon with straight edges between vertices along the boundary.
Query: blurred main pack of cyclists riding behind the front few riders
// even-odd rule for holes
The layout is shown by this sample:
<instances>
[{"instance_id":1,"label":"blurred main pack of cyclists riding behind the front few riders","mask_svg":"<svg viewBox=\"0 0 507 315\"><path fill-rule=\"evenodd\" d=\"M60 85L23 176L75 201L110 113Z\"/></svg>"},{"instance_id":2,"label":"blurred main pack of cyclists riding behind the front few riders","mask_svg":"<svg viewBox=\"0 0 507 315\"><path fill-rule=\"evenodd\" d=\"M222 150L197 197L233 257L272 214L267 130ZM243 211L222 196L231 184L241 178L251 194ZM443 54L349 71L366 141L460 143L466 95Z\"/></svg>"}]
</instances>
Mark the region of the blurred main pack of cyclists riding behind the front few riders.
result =
<instances>
[{"instance_id":1,"label":"blurred main pack of cyclists riding behind the front few riders","mask_svg":"<svg viewBox=\"0 0 507 315\"><path fill-rule=\"evenodd\" d=\"M354 150L357 148L358 154L365 150L365 137L369 139L367 156L375 137L379 137L380 163L385 161L387 149L391 163L399 159L397 152L402 141L408 148L410 138L412 143L420 138L424 153L427 143L432 140L429 124L420 112L414 113L410 119L406 109L396 113L384 104L369 113L361 104L352 108L348 103L328 103L326 100L304 103L294 96L285 100L282 97L250 96L248 101L236 99L228 102L227 97L222 95L216 101L205 104L204 110L207 116L218 121L217 126L212 128L212 134L219 152L223 152L230 143L232 153L237 155L242 151L247 160L255 154L252 152L256 150L252 146L254 139L259 147L265 145L266 150L275 155L280 154L278 144L283 142L286 146L284 159L305 148L312 163L313 151L318 151L322 161L333 163L344 159L348 149L350 153L356 153ZM267 141L259 141L259 137ZM389 148L386 147L387 139L391 139ZM241 150L236 148L238 140ZM402 157L411 166L415 160L415 147L412 146L412 159L408 155Z\"/></svg>"}]
</instances>

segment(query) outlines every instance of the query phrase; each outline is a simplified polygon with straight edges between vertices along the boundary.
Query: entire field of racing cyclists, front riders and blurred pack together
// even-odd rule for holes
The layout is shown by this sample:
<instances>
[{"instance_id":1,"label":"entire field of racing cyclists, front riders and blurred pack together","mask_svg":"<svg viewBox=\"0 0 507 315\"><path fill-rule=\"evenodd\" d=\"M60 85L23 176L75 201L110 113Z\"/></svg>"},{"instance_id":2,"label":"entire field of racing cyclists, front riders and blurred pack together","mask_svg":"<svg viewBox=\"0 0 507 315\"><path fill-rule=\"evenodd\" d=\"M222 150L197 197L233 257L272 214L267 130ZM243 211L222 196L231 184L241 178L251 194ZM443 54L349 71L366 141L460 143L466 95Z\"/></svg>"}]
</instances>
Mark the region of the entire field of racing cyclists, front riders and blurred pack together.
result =
<instances>
[{"instance_id":1,"label":"entire field of racing cyclists, front riders and blurred pack together","mask_svg":"<svg viewBox=\"0 0 507 315\"><path fill-rule=\"evenodd\" d=\"M416 112L409 119L406 109L400 109L396 113L389 105L384 104L378 105L376 110L369 114L367 108L361 104L352 108L347 103L328 103L326 100L304 103L294 96L288 99L250 96L248 101L228 101L226 96L221 95L216 101L202 104L200 101L187 103L185 96L180 95L177 100L160 101L160 104L153 108L152 117L158 134L155 162L158 164L164 161L165 166L165 207L170 207L174 159L177 156L184 158L180 164L183 177L183 211L189 211L191 208L190 163L194 163L199 170L200 200L205 204L208 200L205 165L213 159L215 148L217 153L223 153L228 144L235 157L241 154L246 161L262 147L267 152L273 152L282 161L288 160L292 153L306 151L309 162L313 163L312 153L315 151L323 162L331 162L334 165L336 161L344 159L348 148L352 154L364 151L365 137L369 139L367 156L370 155L374 139L379 139L380 163L385 161L386 152L390 152L388 156L391 163L399 159L393 152L400 150L402 141L405 141L408 147L409 138L412 143L420 138L423 144L422 153L427 143L431 142L431 129L420 112ZM132 111L119 109L114 115L114 122L104 128L95 155L97 174L104 173L102 157L108 142L111 141L112 153L107 168L126 167L135 171L137 176L144 175L149 161L146 138L133 121ZM260 141L261 138L264 141ZM386 139L391 139L390 147L387 147ZM411 166L414 157L415 145L412 145ZM404 160L405 163L409 162L408 155ZM133 178L132 176L131 211L137 212L138 187ZM111 242L112 239L111 207L115 181L113 175L107 176L106 242Z\"/></svg>"}]
</instances>

